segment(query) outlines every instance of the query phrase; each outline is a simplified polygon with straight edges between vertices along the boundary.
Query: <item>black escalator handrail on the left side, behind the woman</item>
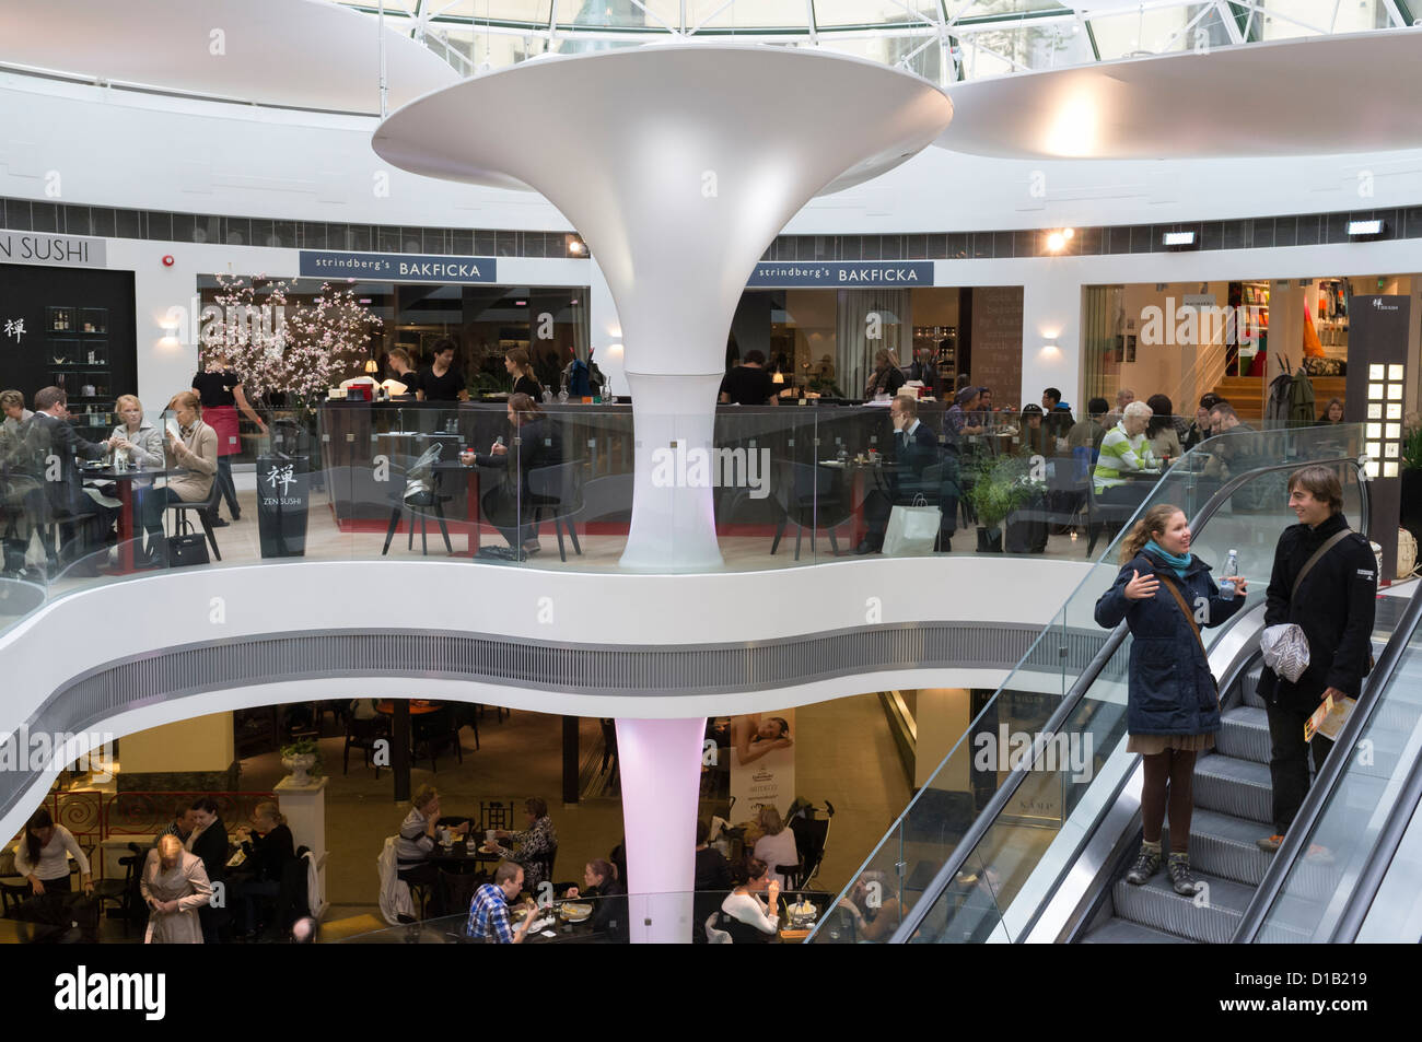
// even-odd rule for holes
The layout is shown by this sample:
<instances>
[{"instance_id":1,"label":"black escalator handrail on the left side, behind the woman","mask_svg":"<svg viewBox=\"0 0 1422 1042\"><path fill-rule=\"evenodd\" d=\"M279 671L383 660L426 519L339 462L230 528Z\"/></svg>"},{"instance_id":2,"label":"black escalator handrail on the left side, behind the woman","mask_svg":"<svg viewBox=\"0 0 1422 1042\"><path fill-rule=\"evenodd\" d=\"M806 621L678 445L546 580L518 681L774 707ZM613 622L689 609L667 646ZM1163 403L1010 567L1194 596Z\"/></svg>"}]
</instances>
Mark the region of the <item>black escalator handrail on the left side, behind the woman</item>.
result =
<instances>
[{"instance_id":1,"label":"black escalator handrail on the left side, behind the woman","mask_svg":"<svg viewBox=\"0 0 1422 1042\"><path fill-rule=\"evenodd\" d=\"M1219 488L1219 490L1214 495L1210 496L1209 502L1206 502L1204 506L1202 506L1199 512L1194 515L1194 520L1190 522L1192 537L1197 535L1204 527L1206 523L1209 523L1210 517L1219 513L1220 507L1224 503L1227 503L1229 499L1239 489L1241 489L1254 478L1266 473L1273 473L1277 471L1297 471L1301 466L1315 466L1315 465L1331 466L1337 463L1348 463L1358 468L1359 472L1358 498L1362 510L1362 532L1367 532L1368 530L1367 478L1362 473L1362 466L1358 463L1355 458L1341 456L1337 459L1311 459L1308 462L1293 461L1288 463L1271 463L1268 466L1257 466L1251 471L1246 471L1241 475L1230 478L1227 482L1224 482L1224 485ZM1136 513L1139 513L1139 510L1136 510ZM1135 517L1132 516L1132 523L1133 522ZM1122 530L1125 532L1125 529ZM1112 540L1112 546L1115 546L1115 543L1116 540ZM1091 660L1091 662L1086 664L1086 668L1082 670L1081 677L1076 678L1076 682L1072 684L1071 689L1068 689L1068 692L1062 697L1062 704L1057 707L1057 711L1051 715L1051 719L1048 719L1047 724L1042 725L1044 734L1055 734L1061 722L1066 719L1066 716L1076 709L1076 707L1081 704L1081 699L1086 697L1086 692L1091 689L1092 684L1096 682L1096 677L1105 668L1106 662L1111 661L1112 655L1121 648L1122 641L1125 641L1126 638L1128 630L1129 627L1125 623L1121 623L1115 630L1112 630L1111 635L1102 645L1101 651L1098 651L1096 655ZM1007 681L1004 681L1004 685L1005 684ZM1001 689L1003 688L998 688L1000 692ZM994 695L994 698L997 695ZM961 742L963 739L958 741ZM956 745L954 749L957 749ZM951 756L953 753L950 752L948 755ZM1032 763L1027 762L1027 758L1022 758L1022 762L1012 769L1012 772L1007 778L1007 782L1004 782L1003 786L993 795L993 799L988 800L988 805L985 807L983 807L983 812L973 819L973 825L968 826L968 830L963 834L963 839L960 839L957 844L953 847L953 852L943 863L943 867L939 869L937 874L934 874L933 877L933 881L923 891L923 897L904 914L903 920L899 923L897 930L894 930L893 935L889 938L890 944L904 944L907 942L909 938L914 935L914 933L917 933L919 927L923 925L923 920L927 918L929 911L937 906L943 891L953 881L953 877L957 876L957 873L963 869L963 863L967 861L968 854L977 850L978 843L987 834L988 829L993 827L993 823L997 822L997 819L1001 816L1003 809L1008 805L1008 802L1011 802L1012 796L1017 793L1017 789L1022 785L1022 782L1027 779L1027 775L1031 770L1032 770Z\"/></svg>"}]
</instances>

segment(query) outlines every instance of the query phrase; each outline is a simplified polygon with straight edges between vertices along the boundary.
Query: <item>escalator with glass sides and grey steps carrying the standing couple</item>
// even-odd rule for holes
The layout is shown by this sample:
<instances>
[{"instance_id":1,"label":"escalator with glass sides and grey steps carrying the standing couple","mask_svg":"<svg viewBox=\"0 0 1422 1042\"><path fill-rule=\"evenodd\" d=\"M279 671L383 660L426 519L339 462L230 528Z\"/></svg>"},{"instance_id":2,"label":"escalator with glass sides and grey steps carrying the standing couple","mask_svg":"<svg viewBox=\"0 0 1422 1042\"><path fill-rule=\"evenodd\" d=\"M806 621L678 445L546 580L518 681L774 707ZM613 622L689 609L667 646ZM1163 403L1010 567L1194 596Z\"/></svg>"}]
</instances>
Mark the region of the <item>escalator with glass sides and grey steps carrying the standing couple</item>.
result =
<instances>
[{"instance_id":1,"label":"escalator with glass sides and grey steps carrying the standing couple","mask_svg":"<svg viewBox=\"0 0 1422 1042\"><path fill-rule=\"evenodd\" d=\"M1271 869L1277 874L1293 866L1298 853L1285 843L1271 864L1256 846L1273 830L1268 726L1254 687L1274 546L1278 533L1297 522L1285 509L1287 476L1307 463L1337 468L1344 513L1367 530L1358 434L1358 428L1250 432L1249 456L1257 465L1224 482L1206 476L1203 465L1219 448L1219 439L1210 439L1187 453L1140 507L1183 509L1192 519L1192 552L1219 566L1230 549L1239 550L1240 573L1250 581L1246 608L1203 631L1224 708L1216 748L1196 766L1192 867L1207 884L1203 900L1176 894L1165 873L1145 887L1121 879L1140 842L1140 758L1125 749L1130 634L1119 627L1084 668L1066 665L1074 647L1102 633L1092 610L1119 569L1118 536L850 881L880 896L883 914L897 924L894 942L1224 942L1249 917L1257 918L1260 884L1270 881ZM1200 458L1192 459L1196 453ZM1388 601L1405 603L1382 604ZM1375 640L1385 640L1396 613L1379 610L1378 618ZM1062 667L1045 689L1055 711L1010 769L993 769L991 756L984 763L978 753L984 743L991 746L998 711L1010 705L1004 692L1034 684L1030 689L1042 691L1039 667L1031 672L1028 664L1054 651ZM1375 680L1381 667L1379 660ZM1088 755L1066 756L1068 748ZM832 924L833 918L826 925ZM829 933L818 930L812 941L832 940ZM833 933L838 940L843 930Z\"/></svg>"}]
</instances>

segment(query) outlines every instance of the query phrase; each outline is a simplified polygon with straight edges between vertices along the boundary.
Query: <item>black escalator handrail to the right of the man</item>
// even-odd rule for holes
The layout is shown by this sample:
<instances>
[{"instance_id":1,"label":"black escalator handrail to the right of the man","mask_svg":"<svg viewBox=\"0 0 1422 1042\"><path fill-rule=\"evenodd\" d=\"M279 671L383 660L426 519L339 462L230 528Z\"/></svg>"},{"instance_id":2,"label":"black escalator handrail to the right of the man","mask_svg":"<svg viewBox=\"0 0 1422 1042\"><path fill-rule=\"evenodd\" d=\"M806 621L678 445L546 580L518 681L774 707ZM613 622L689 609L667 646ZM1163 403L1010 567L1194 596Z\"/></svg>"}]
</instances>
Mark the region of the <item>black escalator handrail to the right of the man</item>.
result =
<instances>
[{"instance_id":1,"label":"black escalator handrail to the right of the man","mask_svg":"<svg viewBox=\"0 0 1422 1042\"><path fill-rule=\"evenodd\" d=\"M1388 684L1392 681L1392 675L1396 672L1398 664L1402 661L1402 652L1406 651L1408 644L1412 640L1412 631L1419 618L1422 618L1422 597L1419 597L1418 591L1413 590L1412 598L1408 601L1406 608L1402 610L1402 617L1392 630L1392 637L1388 638L1388 645L1382 650L1382 655L1378 657L1378 661L1372 668L1367 697L1358 699L1357 709L1348 716L1348 721L1342 725L1342 731L1338 732L1338 738L1334 742L1335 749L1351 749L1357 745L1358 738L1372 721L1372 715L1382 701L1382 692L1386 691ZM1283 844L1277 852L1274 852L1273 861L1268 869L1264 870L1264 877L1254 890L1254 897L1250 898L1249 907L1244 908L1244 914L1240 917L1240 924L1236 927L1234 937L1231 938L1233 944L1253 944L1258 937L1258 931L1264 925L1264 917L1268 914L1270 908L1274 907L1274 901L1278 900L1278 894L1284 888L1284 880L1288 879L1288 873L1293 870L1294 863L1298 860L1301 853L1307 850L1304 844L1307 839L1313 836L1314 827L1322 816L1324 805L1328 802L1328 796L1332 793L1334 786L1342 776L1348 763L1351 763L1349 756L1330 756L1324 761L1322 770L1318 772L1314 783L1308 786L1308 795L1304 796L1304 802L1300 805L1298 813L1294 815L1294 822L1288 826ZM1416 765L1413 765L1413 773L1416 773ZM1409 779L1409 783L1411 780L1412 779ZM1412 806L1415 805L1416 803L1413 800ZM1396 807L1394 807L1394 810L1395 809ZM1389 816L1386 825L1384 826L1384 832L1386 832L1386 827L1391 825L1392 817ZM1375 843L1381 843L1382 839L1384 833L1379 833ZM1398 832L1398 839L1401 839L1401 830ZM1376 846L1374 850L1376 850ZM1371 863L1368 867L1372 867ZM1364 880L1365 877L1359 877L1359 887L1364 884ZM1376 881L1381 883L1381 876ZM1376 893L1376 886L1374 886L1374 893ZM1371 900L1372 897L1369 894L1369 904ZM1338 928L1341 928L1342 923L1347 921L1347 915L1348 910L1344 911L1344 918L1340 920ZM1361 918L1358 923L1361 924Z\"/></svg>"}]
</instances>

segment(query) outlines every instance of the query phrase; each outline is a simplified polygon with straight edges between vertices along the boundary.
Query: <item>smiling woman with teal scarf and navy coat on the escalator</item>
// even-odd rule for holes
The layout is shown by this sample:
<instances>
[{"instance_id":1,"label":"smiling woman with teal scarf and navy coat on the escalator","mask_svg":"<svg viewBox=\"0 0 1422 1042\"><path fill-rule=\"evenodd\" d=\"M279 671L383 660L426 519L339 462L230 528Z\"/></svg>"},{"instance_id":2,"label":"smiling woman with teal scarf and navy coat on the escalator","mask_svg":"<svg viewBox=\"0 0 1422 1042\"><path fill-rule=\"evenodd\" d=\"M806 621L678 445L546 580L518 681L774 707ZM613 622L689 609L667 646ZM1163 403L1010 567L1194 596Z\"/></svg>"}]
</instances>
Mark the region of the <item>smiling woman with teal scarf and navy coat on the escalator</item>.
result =
<instances>
[{"instance_id":1,"label":"smiling woman with teal scarf and navy coat on the escalator","mask_svg":"<svg viewBox=\"0 0 1422 1042\"><path fill-rule=\"evenodd\" d=\"M1166 503L1136 522L1121 560L1116 581L1096 601L1096 623L1115 628L1125 620L1132 637L1126 751L1145 759L1145 829L1126 881L1142 886L1160 870L1160 827L1169 809L1170 886L1192 896L1199 890L1190 874L1194 758L1214 745L1220 729L1219 689L1197 627L1219 625L1239 611L1244 580L1226 576L1237 593L1221 596L1210 566L1190 553L1185 512Z\"/></svg>"}]
</instances>

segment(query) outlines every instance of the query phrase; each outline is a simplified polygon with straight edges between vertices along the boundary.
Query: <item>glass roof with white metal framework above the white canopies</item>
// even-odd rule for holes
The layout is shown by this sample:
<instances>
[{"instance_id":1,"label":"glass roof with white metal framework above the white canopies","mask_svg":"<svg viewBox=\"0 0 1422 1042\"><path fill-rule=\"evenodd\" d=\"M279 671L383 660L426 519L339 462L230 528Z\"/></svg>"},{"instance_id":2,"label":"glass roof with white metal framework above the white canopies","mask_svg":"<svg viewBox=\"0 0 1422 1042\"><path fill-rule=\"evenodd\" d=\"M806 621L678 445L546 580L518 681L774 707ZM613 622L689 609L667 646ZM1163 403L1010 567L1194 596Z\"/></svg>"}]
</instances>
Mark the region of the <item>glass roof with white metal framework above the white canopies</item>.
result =
<instances>
[{"instance_id":1,"label":"glass roof with white metal framework above the white canopies","mask_svg":"<svg viewBox=\"0 0 1422 1042\"><path fill-rule=\"evenodd\" d=\"M333 0L374 16L378 0ZM464 75L648 40L822 47L940 85L1092 61L1412 24L1422 0L385 0Z\"/></svg>"}]
</instances>

